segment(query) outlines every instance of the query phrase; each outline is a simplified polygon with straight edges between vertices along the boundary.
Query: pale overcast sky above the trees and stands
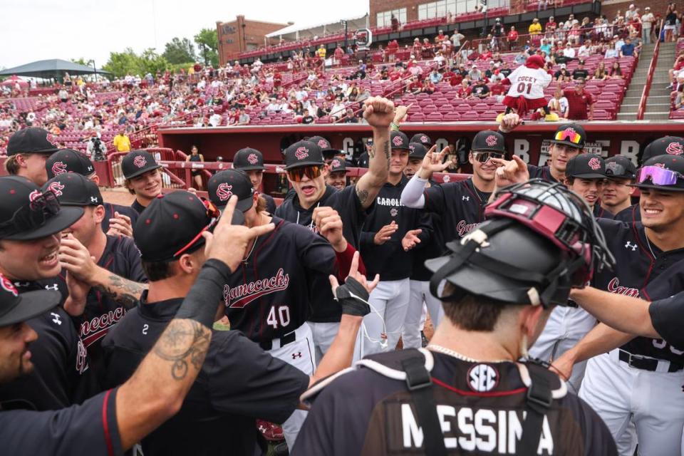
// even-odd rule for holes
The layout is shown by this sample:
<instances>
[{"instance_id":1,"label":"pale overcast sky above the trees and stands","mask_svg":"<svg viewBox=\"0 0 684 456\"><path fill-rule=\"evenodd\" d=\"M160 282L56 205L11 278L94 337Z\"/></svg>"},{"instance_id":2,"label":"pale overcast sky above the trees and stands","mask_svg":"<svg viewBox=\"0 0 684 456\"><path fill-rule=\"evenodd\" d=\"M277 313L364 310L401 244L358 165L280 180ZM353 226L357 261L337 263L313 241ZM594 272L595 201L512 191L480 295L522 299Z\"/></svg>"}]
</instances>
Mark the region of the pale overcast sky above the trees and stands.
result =
<instances>
[{"instance_id":1,"label":"pale overcast sky above the trees and stands","mask_svg":"<svg viewBox=\"0 0 684 456\"><path fill-rule=\"evenodd\" d=\"M344 11L334 11L333 4ZM111 51L164 51L174 36L192 36L238 14L247 19L314 24L363 16L368 0L1 0L0 68L48 58L90 58L103 66Z\"/></svg>"}]
</instances>

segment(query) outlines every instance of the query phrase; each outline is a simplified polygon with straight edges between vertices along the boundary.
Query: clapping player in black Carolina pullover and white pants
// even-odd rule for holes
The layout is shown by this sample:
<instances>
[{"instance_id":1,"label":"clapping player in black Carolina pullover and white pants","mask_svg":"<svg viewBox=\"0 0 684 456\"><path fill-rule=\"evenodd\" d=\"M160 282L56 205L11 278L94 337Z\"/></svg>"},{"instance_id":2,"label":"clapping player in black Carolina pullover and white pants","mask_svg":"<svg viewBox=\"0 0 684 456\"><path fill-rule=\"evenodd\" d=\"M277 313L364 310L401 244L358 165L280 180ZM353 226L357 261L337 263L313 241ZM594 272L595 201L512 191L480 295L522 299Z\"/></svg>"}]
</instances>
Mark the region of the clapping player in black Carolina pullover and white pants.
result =
<instances>
[{"instance_id":1,"label":"clapping player in black Carolina pullover and white pants","mask_svg":"<svg viewBox=\"0 0 684 456\"><path fill-rule=\"evenodd\" d=\"M382 280L368 301L373 311L363 319L359 359L397 346L410 301L413 249L422 249L432 232L427 214L423 216L422 211L400 203L408 182L403 175L410 153L408 137L393 131L390 142L392 157L387 183L375 198L375 207L361 232L361 254L367 274L378 274Z\"/></svg>"}]
</instances>

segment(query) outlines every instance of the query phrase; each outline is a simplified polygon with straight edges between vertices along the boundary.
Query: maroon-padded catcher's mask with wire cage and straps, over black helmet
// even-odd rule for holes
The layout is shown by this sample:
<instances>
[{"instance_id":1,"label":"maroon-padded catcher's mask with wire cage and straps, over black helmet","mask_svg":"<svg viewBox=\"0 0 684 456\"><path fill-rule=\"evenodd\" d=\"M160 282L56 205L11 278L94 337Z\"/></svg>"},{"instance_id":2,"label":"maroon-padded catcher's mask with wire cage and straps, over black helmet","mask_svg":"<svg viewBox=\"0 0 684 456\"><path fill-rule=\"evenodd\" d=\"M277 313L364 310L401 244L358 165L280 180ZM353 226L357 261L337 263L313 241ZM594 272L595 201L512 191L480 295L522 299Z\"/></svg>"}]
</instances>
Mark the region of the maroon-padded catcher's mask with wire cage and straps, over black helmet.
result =
<instances>
[{"instance_id":1,"label":"maroon-padded catcher's mask with wire cage and straps, over black helmet","mask_svg":"<svg viewBox=\"0 0 684 456\"><path fill-rule=\"evenodd\" d=\"M615 264L589 206L559 182L534 179L507 187L497 193L497 199L484 209L484 214L491 222L460 242L447 244L454 253L430 281L430 291L434 296L442 300L454 299L457 294L438 296L437 287L443 279L469 263L507 279L537 284L518 296L518 302L548 306L561 282L581 288L591 280L594 271ZM487 247L490 238L516 222L549 239L566 253L566 260L554 270L541 274L521 271L516 266L493 261L480 253L480 248Z\"/></svg>"}]
</instances>

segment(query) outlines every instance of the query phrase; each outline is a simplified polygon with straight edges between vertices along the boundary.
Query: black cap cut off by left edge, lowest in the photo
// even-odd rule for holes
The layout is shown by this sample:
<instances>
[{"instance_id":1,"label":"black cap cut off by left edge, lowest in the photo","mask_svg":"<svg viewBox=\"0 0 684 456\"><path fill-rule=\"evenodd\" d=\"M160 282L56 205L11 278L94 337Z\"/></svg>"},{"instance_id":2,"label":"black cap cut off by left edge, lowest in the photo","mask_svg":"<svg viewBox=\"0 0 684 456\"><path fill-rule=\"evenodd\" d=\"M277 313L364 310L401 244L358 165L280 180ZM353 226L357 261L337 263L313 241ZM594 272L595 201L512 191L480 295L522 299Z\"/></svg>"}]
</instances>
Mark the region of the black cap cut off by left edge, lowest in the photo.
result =
<instances>
[{"instance_id":1,"label":"black cap cut off by left edge, lowest in the photo","mask_svg":"<svg viewBox=\"0 0 684 456\"><path fill-rule=\"evenodd\" d=\"M19 294L14 284L0 274L0 327L21 323L44 314L59 304L56 290L36 290Z\"/></svg>"}]
</instances>

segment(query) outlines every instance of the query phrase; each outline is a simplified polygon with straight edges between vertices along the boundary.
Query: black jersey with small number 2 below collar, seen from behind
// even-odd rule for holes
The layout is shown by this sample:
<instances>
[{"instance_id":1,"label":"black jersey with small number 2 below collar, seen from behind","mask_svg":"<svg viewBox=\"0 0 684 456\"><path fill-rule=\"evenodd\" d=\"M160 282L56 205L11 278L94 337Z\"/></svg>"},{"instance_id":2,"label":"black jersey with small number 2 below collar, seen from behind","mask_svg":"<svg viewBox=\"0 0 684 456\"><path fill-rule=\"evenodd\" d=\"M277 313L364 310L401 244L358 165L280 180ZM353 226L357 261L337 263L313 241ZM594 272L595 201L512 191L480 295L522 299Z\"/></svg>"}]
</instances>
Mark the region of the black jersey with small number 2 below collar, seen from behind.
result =
<instances>
[{"instance_id":1,"label":"black jersey with small number 2 below collar, seen from behind","mask_svg":"<svg viewBox=\"0 0 684 456\"><path fill-rule=\"evenodd\" d=\"M183 299L142 296L103 341L105 385L119 385L174 318ZM299 404L309 376L249 341L240 331L214 331L202 371L177 415L142 440L145 456L254 455L256 418L282 423Z\"/></svg>"}]
</instances>

